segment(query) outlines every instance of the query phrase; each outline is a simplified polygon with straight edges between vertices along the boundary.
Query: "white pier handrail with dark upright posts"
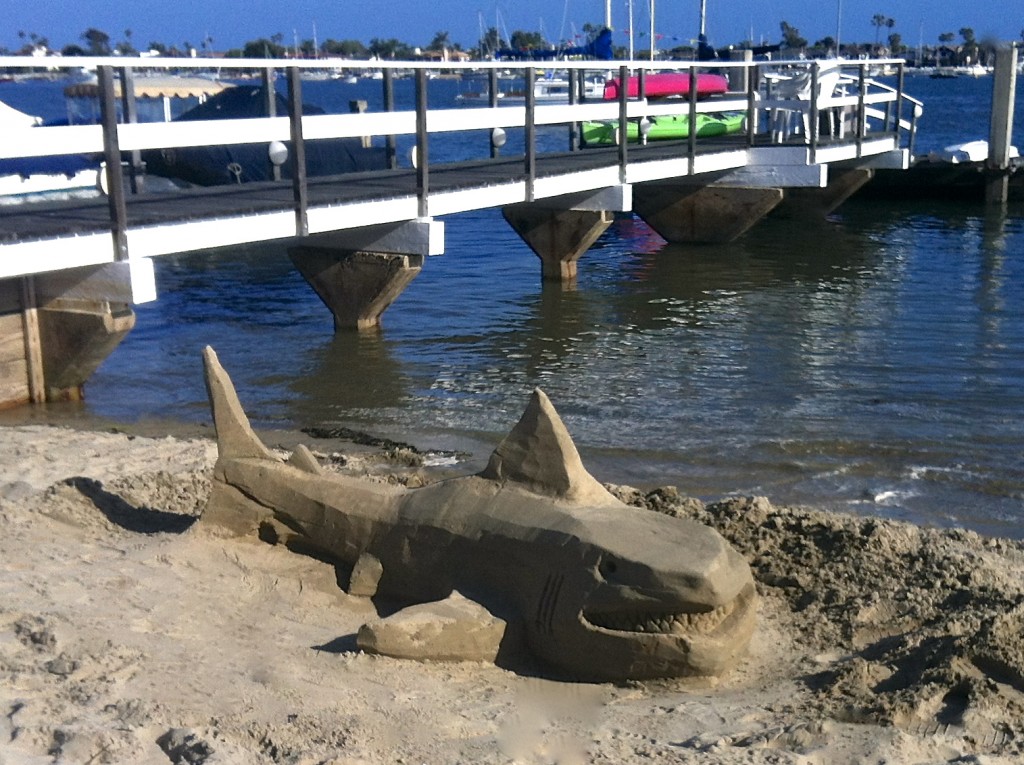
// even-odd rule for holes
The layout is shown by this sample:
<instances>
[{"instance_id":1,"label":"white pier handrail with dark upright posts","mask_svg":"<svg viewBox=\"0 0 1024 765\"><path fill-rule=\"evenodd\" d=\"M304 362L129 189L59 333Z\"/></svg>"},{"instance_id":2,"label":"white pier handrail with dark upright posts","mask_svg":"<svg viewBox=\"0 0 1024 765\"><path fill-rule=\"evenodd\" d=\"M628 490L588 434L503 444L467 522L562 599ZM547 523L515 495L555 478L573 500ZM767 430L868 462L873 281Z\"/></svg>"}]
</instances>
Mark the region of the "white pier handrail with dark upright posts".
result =
<instances>
[{"instance_id":1,"label":"white pier handrail with dark upright posts","mask_svg":"<svg viewBox=\"0 0 1024 765\"><path fill-rule=\"evenodd\" d=\"M305 209L307 205L307 173L304 161L303 142L328 138L364 137L373 139L383 137L388 145L388 167L396 169L400 162L415 167L417 175L417 195L419 199L419 215L427 217L430 214L430 172L432 160L430 157L430 137L432 135L453 132L486 131L487 139L481 140L478 146L481 159L496 157L493 138L496 130L516 129L523 133L523 170L524 199L535 199L535 183L537 181L537 160L541 148L538 145L540 127L564 125L567 146L575 151L580 148L579 126L584 122L604 121L617 123L617 134L627 135L627 125L660 116L686 115L689 120L689 137L681 142L680 159L686 160L687 174L693 174L696 167L698 144L696 142L696 117L712 113L743 113L746 118L746 145L762 146L779 143L803 144L809 147L810 162L817 162L817 155L825 143L825 136L820 133L819 116L823 113L838 115L842 123L852 122L852 133L856 136L858 156L863 143L880 135L893 134L896 145L900 136L906 132L912 145L915 118L920 113L921 102L909 98L902 92L902 59L871 59L862 60L779 60L765 61L596 61L566 60L545 62L545 68L566 70L571 75L575 86L581 86L581 80L587 73L602 72L605 76L616 75L623 78L637 76L640 92L637 96L628 96L627 88L620 88L617 100L587 100L573 97L565 103L540 103L534 97L534 80L539 65L537 62L518 61L352 61L341 58L317 60L302 59L202 59L202 58L127 58L112 57L59 57L44 58L23 56L0 56L0 71L78 71L82 68L94 68L100 73L102 96L108 101L108 115L103 125L57 125L39 126L10 131L6 140L0 142L0 159L30 158L57 155L95 155L105 156L108 190L112 199L111 225L115 238L115 259L125 259L127 245L125 238L126 220L124 215L125 194L120 182L120 164L113 161L118 156L124 158L130 153L144 150L166 150L185 146L234 145L243 143L265 143L274 141L290 141L294 145L289 154L289 162L293 163L293 179L291 181L296 211L296 236L306 233ZM879 83L866 77L867 67L893 67L898 72L899 85L896 88ZM855 92L822 93L820 97L810 97L804 94L791 94L777 97L770 87L764 88L764 74L768 68L773 71L791 71L804 73L812 83L811 92L817 92L823 68L839 71L842 81ZM216 70L224 79L230 79L229 73L247 75L249 73L270 73L269 80L273 82L274 73L285 75L289 85L291 99L290 112L295 115L301 103L301 76L315 71L355 71L382 72L384 88L384 111L362 112L355 114L301 115L290 117L269 116L246 119L210 119L191 122L122 122L113 118L114 73L120 72L122 79L131 80L131 75L141 76L145 72L178 72L195 70ZM749 83L741 91L726 92L722 95L702 99L696 97L696 77L700 72L717 71L719 73L742 73L742 81ZM499 105L497 95L497 73L518 72L526 82L525 102L522 105ZM480 105L442 104L434 108L429 101L427 82L429 75L438 73L464 74L468 72L486 73L490 97L488 102ZM644 82L648 73L678 72L689 73L690 97L655 100L644 97ZM393 80L398 74L413 73L415 77L415 105L413 109L395 110ZM264 75L266 77L266 75ZM738 78L737 78L738 79ZM853 85L855 84L855 88ZM131 87L126 87L124 98L125 113L132 114L130 103ZM582 90L582 87L581 87ZM913 107L914 117L910 121L900 119L903 101ZM788 111L805 115L807 129L802 135L772 135L771 131L763 130L762 125L771 115ZM896 115L895 119L892 118ZM272 115L272 113L271 113ZM869 123L871 125L869 129ZM880 126L880 127L876 127ZM645 142L645 134L640 131L640 143ZM397 157L395 153L396 136L415 137L415 162L412 158ZM835 137L835 136L831 136ZM467 144L469 145L469 144ZM738 144L737 144L738 145ZM549 150L550 151L550 150ZM626 182L628 168L634 162L643 158L642 146L633 148L621 137L618 139L620 182ZM467 157L475 159L475 157ZM298 162L296 165L295 163ZM117 175L118 177L115 177Z\"/></svg>"}]
</instances>

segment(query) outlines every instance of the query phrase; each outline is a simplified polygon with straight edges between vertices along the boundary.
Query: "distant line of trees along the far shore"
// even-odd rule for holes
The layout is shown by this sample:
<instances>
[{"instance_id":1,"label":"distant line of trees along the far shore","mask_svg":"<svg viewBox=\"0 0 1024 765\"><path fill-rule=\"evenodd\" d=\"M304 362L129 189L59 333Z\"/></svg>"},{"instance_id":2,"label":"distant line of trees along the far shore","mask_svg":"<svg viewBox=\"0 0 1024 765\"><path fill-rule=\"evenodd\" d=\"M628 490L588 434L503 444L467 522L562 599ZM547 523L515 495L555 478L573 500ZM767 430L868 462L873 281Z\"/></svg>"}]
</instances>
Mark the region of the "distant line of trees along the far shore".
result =
<instances>
[{"instance_id":1,"label":"distant line of trees along the far shore","mask_svg":"<svg viewBox=\"0 0 1024 765\"><path fill-rule=\"evenodd\" d=\"M938 36L938 44L919 46L910 48L907 46L899 32L895 31L896 22L894 18L883 13L876 13L871 17L871 26L874 27L874 40L871 42L851 43L843 42L837 45L835 38L826 36L810 43L801 36L800 30L788 24L779 24L780 40L782 48L792 53L806 54L811 56L826 56L840 54L846 57L857 57L862 54L903 56L916 63L933 63L940 66L963 65L973 62L986 62L994 53L998 42L995 40L979 40L976 38L974 30L970 27L963 27L957 33L943 32ZM583 42L589 42L600 33L600 25L585 24L583 27ZM883 39L883 31L886 36ZM957 40L957 35L959 40ZM35 32L17 33L20 47L16 50L0 48L0 53L14 55L31 55L35 51L51 49L49 40ZM1021 40L1024 40L1024 30L1021 31ZM641 37L641 41L643 38ZM573 41L572 44L579 44ZM564 44L564 43L563 43ZM642 44L642 42L641 42ZM726 46L725 49L735 47L744 48L753 45L750 40L742 40L734 45ZM504 37L498 29L488 29L476 45L468 51L473 58L487 58L494 55L495 51L502 49L512 50L544 50L559 47L550 41L545 40L539 32L526 32L517 30L508 38ZM658 53L669 58L692 57L696 49L696 41L683 43L674 47L663 47ZM721 47L719 48L722 49ZM412 45L408 42L395 38L373 38L369 44L364 44L359 40L334 40L327 39L324 42L316 42L312 39L305 39L301 42L294 40L291 45L285 42L284 35L278 33L269 37L261 37L256 40L246 42L240 48L230 48L222 52L216 52L214 40L210 35L206 35L198 46L188 40L182 41L180 46L176 43L167 44L160 41L151 41L143 49L145 52L154 52L165 56L193 56L193 55L221 55L228 58L316 58L318 56L342 57L352 59L412 59L423 54L424 51L463 51L462 46L453 42L447 32L437 32L433 38L423 46ZM120 40L113 38L103 32L90 27L83 32L79 40L75 43L65 45L59 52L62 55L137 55L139 50L133 40L132 31L124 30ZM626 56L625 46L615 50L617 57ZM648 51L637 51L638 57L646 57Z\"/></svg>"}]
</instances>

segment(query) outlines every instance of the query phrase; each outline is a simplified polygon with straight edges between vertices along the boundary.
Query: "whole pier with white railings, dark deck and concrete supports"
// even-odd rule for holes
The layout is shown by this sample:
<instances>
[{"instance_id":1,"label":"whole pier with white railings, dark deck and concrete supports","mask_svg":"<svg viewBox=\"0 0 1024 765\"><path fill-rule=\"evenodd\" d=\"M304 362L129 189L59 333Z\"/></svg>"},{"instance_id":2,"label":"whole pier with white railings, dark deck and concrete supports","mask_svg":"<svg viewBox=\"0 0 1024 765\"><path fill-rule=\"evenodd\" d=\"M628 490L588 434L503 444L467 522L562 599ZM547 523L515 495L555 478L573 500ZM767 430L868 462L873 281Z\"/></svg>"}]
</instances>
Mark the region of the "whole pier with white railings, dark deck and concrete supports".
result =
<instances>
[{"instance_id":1,"label":"whole pier with white railings, dark deck and concrete supports","mask_svg":"<svg viewBox=\"0 0 1024 765\"><path fill-rule=\"evenodd\" d=\"M869 77L881 65L896 69L895 86ZM617 213L692 244L734 240L780 208L823 215L874 169L907 167L922 109L903 91L901 60L558 61L571 87L565 102L549 102L536 97L536 63L0 57L0 67L82 66L97 71L101 124L26 128L0 145L3 159L103 159L106 190L0 207L0 406L81 396L131 330L131 305L158 299L153 260L163 255L280 241L335 327L366 329L429 267L429 256L444 252L445 216L500 208L538 255L542 279L571 284L581 257ZM133 78L211 66L224 79L232 70L262 73L287 90L288 114L133 121ZM303 77L339 68L380 70L384 109L303 115ZM431 102L432 75L471 69L489 73L489 98ZM520 71L522 103L499 103L499 69ZM698 99L697 77L709 69L727 75L730 86ZM688 97L645 97L645 77L666 70L688 74ZM583 97L595 72L621 82L638 77L638 92ZM408 109L395 107L399 75L414 82ZM124 85L120 102L117 83ZM696 137L699 116L724 113L743 115L743 129ZM645 127L665 116L684 116L688 136L646 140ZM609 123L618 138L584 145L588 122ZM631 126L636 142L622 139ZM307 172L307 148L339 138L381 147L381 166ZM458 156L436 159L432 150L442 141L455 141ZM147 151L254 143L267 146L275 176L284 168L287 177L159 192L136 182Z\"/></svg>"}]
</instances>

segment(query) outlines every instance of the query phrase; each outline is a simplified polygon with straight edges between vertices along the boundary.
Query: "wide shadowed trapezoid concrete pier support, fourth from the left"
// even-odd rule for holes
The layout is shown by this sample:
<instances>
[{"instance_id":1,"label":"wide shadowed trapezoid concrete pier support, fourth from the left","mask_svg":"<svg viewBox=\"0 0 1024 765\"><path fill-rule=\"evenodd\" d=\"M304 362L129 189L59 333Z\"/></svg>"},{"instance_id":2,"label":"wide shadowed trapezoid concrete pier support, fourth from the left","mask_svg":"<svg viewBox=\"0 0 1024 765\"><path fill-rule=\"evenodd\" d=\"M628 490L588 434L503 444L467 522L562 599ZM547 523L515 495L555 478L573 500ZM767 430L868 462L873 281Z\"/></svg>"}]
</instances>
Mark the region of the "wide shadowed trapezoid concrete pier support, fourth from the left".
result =
<instances>
[{"instance_id":1,"label":"wide shadowed trapezoid concrete pier support, fourth from the left","mask_svg":"<svg viewBox=\"0 0 1024 765\"><path fill-rule=\"evenodd\" d=\"M732 242L782 201L782 189L643 183L633 209L657 233L677 244Z\"/></svg>"}]
</instances>

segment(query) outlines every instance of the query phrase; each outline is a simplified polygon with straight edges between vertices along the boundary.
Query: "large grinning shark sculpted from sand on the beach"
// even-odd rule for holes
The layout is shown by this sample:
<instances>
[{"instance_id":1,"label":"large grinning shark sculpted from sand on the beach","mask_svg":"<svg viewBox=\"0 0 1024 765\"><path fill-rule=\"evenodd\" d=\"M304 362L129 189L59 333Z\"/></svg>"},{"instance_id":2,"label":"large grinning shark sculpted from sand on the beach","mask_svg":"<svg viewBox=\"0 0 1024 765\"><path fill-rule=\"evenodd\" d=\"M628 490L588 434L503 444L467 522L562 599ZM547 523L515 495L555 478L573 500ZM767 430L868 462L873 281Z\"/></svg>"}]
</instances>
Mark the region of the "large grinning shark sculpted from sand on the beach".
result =
<instances>
[{"instance_id":1,"label":"large grinning shark sculpted from sand on the beach","mask_svg":"<svg viewBox=\"0 0 1024 765\"><path fill-rule=\"evenodd\" d=\"M406 488L329 474L301 445L282 461L212 348L204 360L219 453L204 522L273 528L359 570L361 594L423 603L458 590L575 679L714 676L744 652L746 562L712 528L612 497L542 391L482 472Z\"/></svg>"}]
</instances>

